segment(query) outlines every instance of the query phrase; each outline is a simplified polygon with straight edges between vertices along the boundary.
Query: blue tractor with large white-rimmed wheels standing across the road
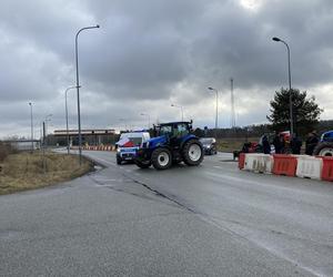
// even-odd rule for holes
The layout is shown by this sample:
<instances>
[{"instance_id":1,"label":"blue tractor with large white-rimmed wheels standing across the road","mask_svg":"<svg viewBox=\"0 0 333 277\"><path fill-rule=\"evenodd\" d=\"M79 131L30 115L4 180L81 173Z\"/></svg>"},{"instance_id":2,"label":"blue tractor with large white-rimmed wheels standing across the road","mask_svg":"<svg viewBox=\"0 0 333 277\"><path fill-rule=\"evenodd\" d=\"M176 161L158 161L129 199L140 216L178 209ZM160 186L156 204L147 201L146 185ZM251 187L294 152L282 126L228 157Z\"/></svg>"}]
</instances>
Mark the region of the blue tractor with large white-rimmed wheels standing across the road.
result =
<instances>
[{"instance_id":1,"label":"blue tractor with large white-rimmed wheels standing across the road","mask_svg":"<svg viewBox=\"0 0 333 277\"><path fill-rule=\"evenodd\" d=\"M181 162L190 166L199 165L204 151L191 130L192 122L170 122L154 126L155 137L142 143L137 152L135 164L141 168L153 165L157 170L167 170Z\"/></svg>"}]
</instances>

